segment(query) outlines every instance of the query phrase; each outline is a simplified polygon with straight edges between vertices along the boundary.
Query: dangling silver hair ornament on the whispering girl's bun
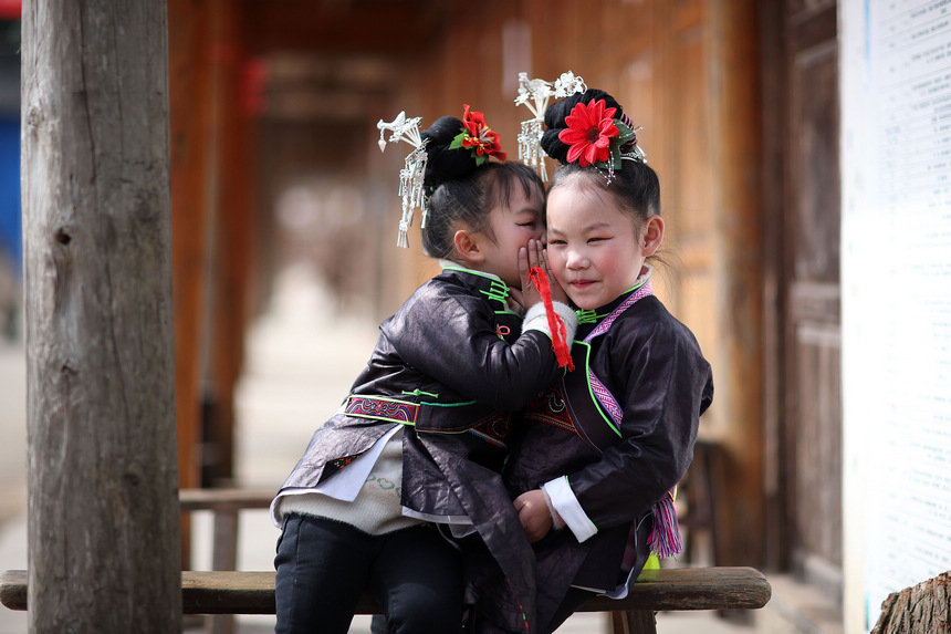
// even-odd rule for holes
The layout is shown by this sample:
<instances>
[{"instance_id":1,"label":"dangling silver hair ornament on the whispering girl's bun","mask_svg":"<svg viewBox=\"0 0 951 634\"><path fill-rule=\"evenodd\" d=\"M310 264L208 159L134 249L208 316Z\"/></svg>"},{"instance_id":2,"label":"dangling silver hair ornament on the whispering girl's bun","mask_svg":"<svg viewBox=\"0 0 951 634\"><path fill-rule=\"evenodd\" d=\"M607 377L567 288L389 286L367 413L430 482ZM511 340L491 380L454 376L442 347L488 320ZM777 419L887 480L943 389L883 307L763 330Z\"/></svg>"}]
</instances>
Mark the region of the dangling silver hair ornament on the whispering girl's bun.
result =
<instances>
[{"instance_id":1,"label":"dangling silver hair ornament on the whispering girl's bun","mask_svg":"<svg viewBox=\"0 0 951 634\"><path fill-rule=\"evenodd\" d=\"M406 111L400 112L395 119L387 123L379 119L376 124L379 129L379 150L386 149L387 141L389 143L399 143L405 141L414 147L414 150L406 156L406 165L399 170L399 195L403 198L403 217L399 220L399 235L396 239L396 245L404 249L409 247L407 233L412 225L412 211L419 207L420 222L419 226L426 227L426 216L428 212L428 200L424 194L422 179L426 176L426 141L422 141L419 135L419 122L422 117L417 116L406 118ZM384 139L386 131L390 131L388 139Z\"/></svg>"}]
</instances>

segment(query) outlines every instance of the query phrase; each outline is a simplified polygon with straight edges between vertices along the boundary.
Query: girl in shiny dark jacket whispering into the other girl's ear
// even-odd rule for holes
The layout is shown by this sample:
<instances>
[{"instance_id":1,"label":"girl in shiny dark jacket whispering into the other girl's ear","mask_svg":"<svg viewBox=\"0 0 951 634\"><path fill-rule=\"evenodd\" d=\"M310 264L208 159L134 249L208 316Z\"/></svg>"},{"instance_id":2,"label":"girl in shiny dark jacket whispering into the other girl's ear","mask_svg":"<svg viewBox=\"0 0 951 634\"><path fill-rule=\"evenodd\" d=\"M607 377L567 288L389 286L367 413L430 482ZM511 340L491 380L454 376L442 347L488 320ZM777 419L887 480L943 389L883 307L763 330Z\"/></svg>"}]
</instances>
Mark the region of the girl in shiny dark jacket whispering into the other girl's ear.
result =
<instances>
[{"instance_id":1,"label":"girl in shiny dark jacket whispering into the other girl's ear","mask_svg":"<svg viewBox=\"0 0 951 634\"><path fill-rule=\"evenodd\" d=\"M466 106L421 135L428 256L442 272L380 325L367 367L318 428L272 503L276 632L345 633L366 589L390 632L461 631L458 551L433 528L478 531L531 619L531 548L498 471L513 410L555 380L562 323L526 284L541 263L537 177L504 159L498 135ZM510 288L527 308L512 310ZM552 320L550 322L550 319ZM514 528L513 528L514 527ZM529 559L526 560L525 557Z\"/></svg>"}]
</instances>

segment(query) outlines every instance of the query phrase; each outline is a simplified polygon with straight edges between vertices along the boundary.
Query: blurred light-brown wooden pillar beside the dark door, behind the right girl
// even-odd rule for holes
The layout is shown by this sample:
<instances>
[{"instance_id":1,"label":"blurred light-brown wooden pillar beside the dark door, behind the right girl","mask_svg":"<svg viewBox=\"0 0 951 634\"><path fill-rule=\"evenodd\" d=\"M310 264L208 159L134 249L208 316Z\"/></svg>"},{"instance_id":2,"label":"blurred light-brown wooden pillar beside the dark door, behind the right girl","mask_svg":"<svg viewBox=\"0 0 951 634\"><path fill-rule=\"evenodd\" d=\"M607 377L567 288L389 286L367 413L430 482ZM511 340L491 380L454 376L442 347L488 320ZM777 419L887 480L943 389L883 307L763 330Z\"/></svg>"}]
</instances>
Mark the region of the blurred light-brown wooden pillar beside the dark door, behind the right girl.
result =
<instances>
[{"instance_id":1,"label":"blurred light-brown wooden pillar beside the dark door, behind the right girl","mask_svg":"<svg viewBox=\"0 0 951 634\"><path fill-rule=\"evenodd\" d=\"M727 457L727 495L718 509L728 561L718 563L729 565L756 565L764 557L762 137L757 123L756 11L754 0L714 0L710 4L720 346L714 404L729 413L729 424L720 437Z\"/></svg>"}]
</instances>

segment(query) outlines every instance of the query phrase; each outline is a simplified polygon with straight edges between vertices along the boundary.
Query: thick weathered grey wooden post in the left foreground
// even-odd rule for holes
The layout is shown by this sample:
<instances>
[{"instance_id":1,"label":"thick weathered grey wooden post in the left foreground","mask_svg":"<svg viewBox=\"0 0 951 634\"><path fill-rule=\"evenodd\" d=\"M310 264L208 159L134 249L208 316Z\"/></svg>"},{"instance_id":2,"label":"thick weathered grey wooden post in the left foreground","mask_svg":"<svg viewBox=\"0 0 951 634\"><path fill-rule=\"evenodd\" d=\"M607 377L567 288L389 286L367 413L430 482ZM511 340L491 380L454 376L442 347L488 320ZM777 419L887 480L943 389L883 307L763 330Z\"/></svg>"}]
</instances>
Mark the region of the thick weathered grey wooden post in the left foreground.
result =
<instances>
[{"instance_id":1,"label":"thick weathered grey wooden post in the left foreground","mask_svg":"<svg viewBox=\"0 0 951 634\"><path fill-rule=\"evenodd\" d=\"M30 628L180 632L166 2L22 31Z\"/></svg>"}]
</instances>

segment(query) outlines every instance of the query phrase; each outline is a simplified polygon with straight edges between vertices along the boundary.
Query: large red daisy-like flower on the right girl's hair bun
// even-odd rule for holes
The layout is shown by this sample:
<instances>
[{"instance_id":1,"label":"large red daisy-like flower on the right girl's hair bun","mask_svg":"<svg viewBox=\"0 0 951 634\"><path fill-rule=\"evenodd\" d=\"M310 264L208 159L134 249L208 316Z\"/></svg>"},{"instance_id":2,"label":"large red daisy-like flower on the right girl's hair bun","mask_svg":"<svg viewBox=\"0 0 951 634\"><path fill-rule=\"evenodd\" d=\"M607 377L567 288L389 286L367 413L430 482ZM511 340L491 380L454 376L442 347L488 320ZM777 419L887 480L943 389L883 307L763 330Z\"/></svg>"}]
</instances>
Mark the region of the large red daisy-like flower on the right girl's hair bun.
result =
<instances>
[{"instance_id":1,"label":"large red daisy-like flower on the right girl's hair bun","mask_svg":"<svg viewBox=\"0 0 951 634\"><path fill-rule=\"evenodd\" d=\"M605 100L577 103L565 117L567 127L558 133L558 139L568 146L568 163L620 169L620 148L636 144L637 135L624 121L614 118L616 107L606 105Z\"/></svg>"}]
</instances>

